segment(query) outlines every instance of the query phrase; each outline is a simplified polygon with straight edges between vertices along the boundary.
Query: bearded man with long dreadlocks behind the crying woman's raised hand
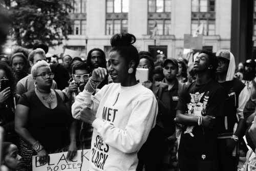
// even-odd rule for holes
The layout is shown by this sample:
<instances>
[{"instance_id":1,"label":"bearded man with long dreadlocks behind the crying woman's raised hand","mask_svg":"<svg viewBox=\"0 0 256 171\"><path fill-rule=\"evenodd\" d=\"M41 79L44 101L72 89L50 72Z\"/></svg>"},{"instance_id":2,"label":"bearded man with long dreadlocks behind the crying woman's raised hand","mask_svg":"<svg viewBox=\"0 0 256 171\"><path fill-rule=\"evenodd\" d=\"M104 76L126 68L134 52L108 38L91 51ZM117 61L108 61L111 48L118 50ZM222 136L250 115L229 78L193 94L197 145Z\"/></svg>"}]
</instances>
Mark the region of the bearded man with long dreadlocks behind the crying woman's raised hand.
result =
<instances>
[{"instance_id":1,"label":"bearded man with long dreadlocks behind the crying woman's raised hand","mask_svg":"<svg viewBox=\"0 0 256 171\"><path fill-rule=\"evenodd\" d=\"M86 62L92 72L98 67L106 69L106 56L105 53L99 48L94 48L89 51ZM103 86L105 86L105 84L108 84L108 77L109 76L107 75L105 79L99 84L98 89L101 89Z\"/></svg>"}]
</instances>

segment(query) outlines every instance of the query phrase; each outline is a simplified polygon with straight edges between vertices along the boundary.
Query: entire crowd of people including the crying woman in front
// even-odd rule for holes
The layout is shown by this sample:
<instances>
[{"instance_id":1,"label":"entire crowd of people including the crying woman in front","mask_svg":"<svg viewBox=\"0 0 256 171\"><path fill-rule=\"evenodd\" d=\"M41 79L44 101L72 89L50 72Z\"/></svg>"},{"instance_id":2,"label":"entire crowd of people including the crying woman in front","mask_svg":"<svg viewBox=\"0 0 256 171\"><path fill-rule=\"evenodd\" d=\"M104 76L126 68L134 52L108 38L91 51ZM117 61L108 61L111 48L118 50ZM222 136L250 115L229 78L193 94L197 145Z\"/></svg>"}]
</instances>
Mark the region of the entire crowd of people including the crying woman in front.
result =
<instances>
[{"instance_id":1,"label":"entire crowd of people including the crying woman in front","mask_svg":"<svg viewBox=\"0 0 256 171\"><path fill-rule=\"evenodd\" d=\"M72 160L91 149L90 170L238 170L245 136L244 169L256 170L256 62L236 67L230 51L202 50L188 63L135 42L115 34L108 60L94 48L86 60L49 63L45 45L2 55L2 163L32 170L32 156L45 164L52 153ZM148 69L146 81L137 68Z\"/></svg>"}]
</instances>

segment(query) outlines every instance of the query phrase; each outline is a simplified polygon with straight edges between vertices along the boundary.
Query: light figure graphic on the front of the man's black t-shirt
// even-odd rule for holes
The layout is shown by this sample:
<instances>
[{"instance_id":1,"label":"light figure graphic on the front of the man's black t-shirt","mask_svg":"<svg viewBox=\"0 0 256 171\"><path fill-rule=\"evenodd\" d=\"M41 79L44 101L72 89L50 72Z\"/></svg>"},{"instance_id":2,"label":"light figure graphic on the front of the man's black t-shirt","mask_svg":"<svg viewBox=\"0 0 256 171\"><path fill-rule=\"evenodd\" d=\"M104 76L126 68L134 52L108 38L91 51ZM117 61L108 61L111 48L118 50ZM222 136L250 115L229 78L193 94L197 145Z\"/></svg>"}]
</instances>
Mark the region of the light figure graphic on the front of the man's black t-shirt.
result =
<instances>
[{"instance_id":1,"label":"light figure graphic on the front of the man's black t-shirt","mask_svg":"<svg viewBox=\"0 0 256 171\"><path fill-rule=\"evenodd\" d=\"M205 116L206 115L206 107L209 99L209 92L204 96L203 103L200 102L201 98L203 97L204 93L195 93L190 94L191 100L190 103L187 104L188 114L193 116ZM184 134L189 134L191 137L194 137L192 131L195 126L187 126L186 131Z\"/></svg>"}]
</instances>

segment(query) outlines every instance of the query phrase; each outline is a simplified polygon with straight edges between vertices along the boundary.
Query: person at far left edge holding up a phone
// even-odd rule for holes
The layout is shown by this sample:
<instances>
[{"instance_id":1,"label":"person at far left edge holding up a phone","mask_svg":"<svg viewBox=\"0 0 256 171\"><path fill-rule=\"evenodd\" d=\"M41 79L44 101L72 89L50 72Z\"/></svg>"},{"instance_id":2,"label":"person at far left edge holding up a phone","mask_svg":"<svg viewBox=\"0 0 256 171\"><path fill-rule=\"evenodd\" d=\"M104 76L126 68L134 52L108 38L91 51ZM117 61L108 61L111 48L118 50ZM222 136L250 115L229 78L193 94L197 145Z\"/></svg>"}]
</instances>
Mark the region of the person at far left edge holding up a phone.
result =
<instances>
[{"instance_id":1,"label":"person at far left edge holding up a phone","mask_svg":"<svg viewBox=\"0 0 256 171\"><path fill-rule=\"evenodd\" d=\"M0 61L0 126L4 127L5 140L18 144L14 130L14 113L19 95L15 94L15 79L6 62Z\"/></svg>"}]
</instances>

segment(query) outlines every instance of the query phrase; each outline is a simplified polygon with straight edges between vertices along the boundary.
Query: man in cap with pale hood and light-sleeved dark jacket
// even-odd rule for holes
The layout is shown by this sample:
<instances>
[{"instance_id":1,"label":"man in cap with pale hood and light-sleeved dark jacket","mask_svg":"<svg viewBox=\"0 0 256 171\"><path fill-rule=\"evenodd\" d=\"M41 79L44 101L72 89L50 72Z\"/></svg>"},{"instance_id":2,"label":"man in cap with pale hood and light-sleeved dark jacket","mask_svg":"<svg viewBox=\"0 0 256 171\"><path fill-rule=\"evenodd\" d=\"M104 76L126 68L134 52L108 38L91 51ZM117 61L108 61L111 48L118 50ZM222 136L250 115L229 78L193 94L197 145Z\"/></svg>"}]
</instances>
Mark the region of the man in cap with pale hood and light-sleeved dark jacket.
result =
<instances>
[{"instance_id":1,"label":"man in cap with pale hood and light-sleeved dark jacket","mask_svg":"<svg viewBox=\"0 0 256 171\"><path fill-rule=\"evenodd\" d=\"M222 118L218 125L217 148L219 169L237 170L237 157L239 155L236 154L235 147L238 144L239 138L242 138L243 108L246 103L245 98L247 94L245 93L247 93L247 90L244 83L238 78L234 78L236 63L233 54L227 50L219 50L216 56L219 61L217 68L218 82L226 91L224 118ZM238 108L241 110L238 110ZM233 132L235 125L237 125L237 129Z\"/></svg>"}]
</instances>

